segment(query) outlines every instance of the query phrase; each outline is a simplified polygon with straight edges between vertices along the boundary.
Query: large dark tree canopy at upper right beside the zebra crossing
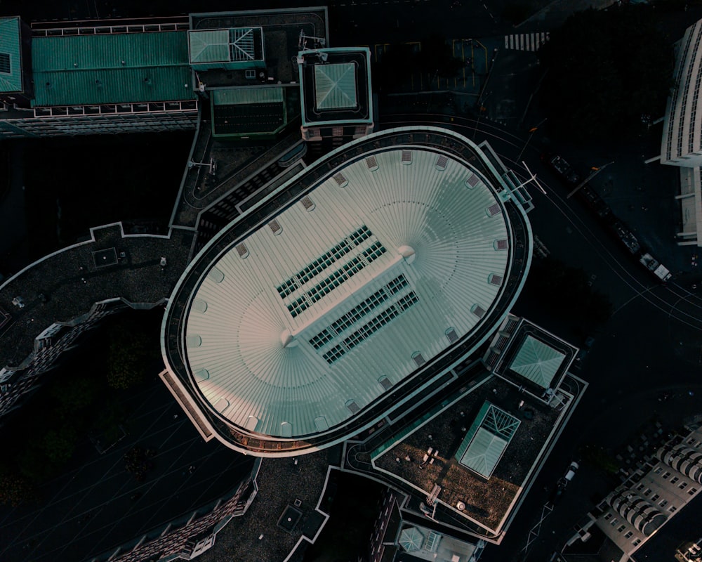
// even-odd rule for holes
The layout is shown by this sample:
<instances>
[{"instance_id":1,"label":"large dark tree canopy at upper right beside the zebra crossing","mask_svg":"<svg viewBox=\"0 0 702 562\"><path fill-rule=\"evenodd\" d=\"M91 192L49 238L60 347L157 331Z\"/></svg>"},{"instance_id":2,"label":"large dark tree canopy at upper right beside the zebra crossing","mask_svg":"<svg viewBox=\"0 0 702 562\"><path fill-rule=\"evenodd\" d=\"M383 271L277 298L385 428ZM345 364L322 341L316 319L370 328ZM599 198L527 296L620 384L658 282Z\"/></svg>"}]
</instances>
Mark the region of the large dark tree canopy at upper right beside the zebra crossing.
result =
<instances>
[{"instance_id":1,"label":"large dark tree canopy at upper right beside the zebra crossing","mask_svg":"<svg viewBox=\"0 0 702 562\"><path fill-rule=\"evenodd\" d=\"M541 102L550 126L576 141L621 140L642 116L663 115L673 84L673 45L651 6L585 10L552 32Z\"/></svg>"}]
</instances>

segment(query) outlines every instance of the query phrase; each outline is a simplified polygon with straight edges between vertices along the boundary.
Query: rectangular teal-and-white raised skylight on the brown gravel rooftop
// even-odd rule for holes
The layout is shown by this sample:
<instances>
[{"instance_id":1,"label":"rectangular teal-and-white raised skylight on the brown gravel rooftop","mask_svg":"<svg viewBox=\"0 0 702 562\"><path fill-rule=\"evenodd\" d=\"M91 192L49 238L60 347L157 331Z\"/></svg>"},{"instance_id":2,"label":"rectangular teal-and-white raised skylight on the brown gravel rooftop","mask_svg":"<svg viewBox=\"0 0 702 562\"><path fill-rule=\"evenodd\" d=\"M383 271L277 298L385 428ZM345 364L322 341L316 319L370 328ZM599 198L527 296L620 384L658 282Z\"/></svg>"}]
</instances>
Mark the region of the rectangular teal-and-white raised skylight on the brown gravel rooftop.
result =
<instances>
[{"instance_id":1,"label":"rectangular teal-and-white raised skylight on the brown gravel rooftop","mask_svg":"<svg viewBox=\"0 0 702 562\"><path fill-rule=\"evenodd\" d=\"M516 417L484 402L456 451L456 460L490 478L520 423Z\"/></svg>"}]
</instances>

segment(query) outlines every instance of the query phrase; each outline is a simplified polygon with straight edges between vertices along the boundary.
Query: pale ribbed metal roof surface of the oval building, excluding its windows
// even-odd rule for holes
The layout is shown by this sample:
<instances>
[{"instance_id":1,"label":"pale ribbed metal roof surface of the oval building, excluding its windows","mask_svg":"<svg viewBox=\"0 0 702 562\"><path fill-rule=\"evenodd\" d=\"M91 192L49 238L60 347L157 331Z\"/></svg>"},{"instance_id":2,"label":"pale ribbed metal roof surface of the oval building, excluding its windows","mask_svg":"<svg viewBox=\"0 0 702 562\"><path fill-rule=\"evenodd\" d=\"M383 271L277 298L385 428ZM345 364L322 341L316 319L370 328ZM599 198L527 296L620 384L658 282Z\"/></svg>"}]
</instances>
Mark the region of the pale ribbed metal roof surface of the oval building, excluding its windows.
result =
<instances>
[{"instance_id":1,"label":"pale ribbed metal roof surface of the oval building, excluding its windows","mask_svg":"<svg viewBox=\"0 0 702 562\"><path fill-rule=\"evenodd\" d=\"M279 235L264 226L247 237L245 260L232 244L216 262L223 280L203 275L192 295L207 308L193 309L187 318L185 334L201 336L201 345L186 346L190 370L207 370L209 378L197 384L211 402L227 398L223 414L232 423L245 426L255 416L256 431L282 436L281 424L288 422L285 431L293 437L316 433L317 417L329 427L341 424L352 416L349 400L366 407L384 392L381 374L392 384L402 381L417 369L413 353L430 360L444 351L451 345L446 329L453 327L461 338L470 333L480 322L470 306L489 310L503 291L488 282L490 273L507 275L509 259L508 252L494 249L494 240L510 237L505 214L484 211L498 203L494 192L482 182L466 188L471 170L456 159L437 170L435 152L413 149L410 165L401 163L401 148L374 156L376 171L361 158L343 168L344 188L332 176L314 188L314 211L293 204L277 215ZM355 245L350 235L364 226L370 235ZM319 266L291 294L279 294L277 287L299 279L300 271L342 241L349 251ZM293 318L288 303L309 298L314 287L376 243L385 248L382 254ZM399 254L408 246L411 259ZM320 349L309 340L399 275L409 283L403 290L416 294L417 302L333 364L324 360L328 346L406 293L383 301Z\"/></svg>"}]
</instances>

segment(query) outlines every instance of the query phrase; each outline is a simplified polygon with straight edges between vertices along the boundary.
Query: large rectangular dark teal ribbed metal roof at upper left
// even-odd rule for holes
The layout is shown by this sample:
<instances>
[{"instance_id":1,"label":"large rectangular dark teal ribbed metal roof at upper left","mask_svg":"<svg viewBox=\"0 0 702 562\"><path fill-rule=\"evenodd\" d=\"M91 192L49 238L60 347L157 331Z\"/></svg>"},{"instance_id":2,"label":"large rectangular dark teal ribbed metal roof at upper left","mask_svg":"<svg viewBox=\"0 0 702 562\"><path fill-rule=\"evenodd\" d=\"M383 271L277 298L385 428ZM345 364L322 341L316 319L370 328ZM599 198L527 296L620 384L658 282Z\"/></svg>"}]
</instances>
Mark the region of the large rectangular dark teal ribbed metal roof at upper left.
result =
<instances>
[{"instance_id":1,"label":"large rectangular dark teal ribbed metal roof at upper left","mask_svg":"<svg viewBox=\"0 0 702 562\"><path fill-rule=\"evenodd\" d=\"M32 105L194 99L187 32L32 39Z\"/></svg>"}]
</instances>

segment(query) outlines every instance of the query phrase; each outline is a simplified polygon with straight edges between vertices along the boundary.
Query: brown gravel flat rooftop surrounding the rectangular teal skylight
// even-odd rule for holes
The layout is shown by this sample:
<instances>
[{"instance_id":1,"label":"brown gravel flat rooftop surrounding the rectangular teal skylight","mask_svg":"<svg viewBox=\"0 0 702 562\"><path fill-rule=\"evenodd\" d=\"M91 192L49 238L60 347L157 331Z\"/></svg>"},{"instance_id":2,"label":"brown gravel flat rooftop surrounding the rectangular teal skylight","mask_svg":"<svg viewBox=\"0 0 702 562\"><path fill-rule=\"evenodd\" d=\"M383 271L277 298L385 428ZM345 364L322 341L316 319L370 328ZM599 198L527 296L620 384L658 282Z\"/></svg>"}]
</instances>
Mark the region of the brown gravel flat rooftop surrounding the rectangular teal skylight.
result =
<instances>
[{"instance_id":1,"label":"brown gravel flat rooftop surrounding the rectangular teal skylight","mask_svg":"<svg viewBox=\"0 0 702 562\"><path fill-rule=\"evenodd\" d=\"M490 478L468 469L455 458L486 400L520 421ZM519 407L521 400L523 407ZM424 496L436 493L438 485L440 504L497 534L543 454L561 412L492 378L432 413L428 421L403 429L399 437L390 436L385 445L376 448L371 453L373 467L390 476L396 485L409 485ZM431 464L424 460L430 447L429 457L434 459ZM463 504L461 509L457 507L459 502Z\"/></svg>"}]
</instances>

